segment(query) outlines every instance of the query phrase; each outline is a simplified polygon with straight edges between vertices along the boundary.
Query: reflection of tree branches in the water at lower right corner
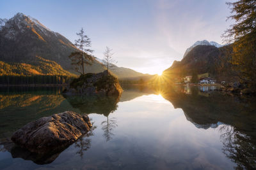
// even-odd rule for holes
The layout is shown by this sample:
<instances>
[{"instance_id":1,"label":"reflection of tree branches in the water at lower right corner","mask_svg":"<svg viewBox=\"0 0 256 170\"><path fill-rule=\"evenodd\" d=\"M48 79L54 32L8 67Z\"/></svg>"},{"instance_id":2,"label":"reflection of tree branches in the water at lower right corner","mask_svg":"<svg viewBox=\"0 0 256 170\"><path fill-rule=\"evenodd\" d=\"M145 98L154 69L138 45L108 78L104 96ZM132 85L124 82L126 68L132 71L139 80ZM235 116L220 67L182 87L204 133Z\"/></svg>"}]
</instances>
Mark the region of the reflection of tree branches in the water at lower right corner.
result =
<instances>
[{"instance_id":1,"label":"reflection of tree branches in the water at lower right corner","mask_svg":"<svg viewBox=\"0 0 256 170\"><path fill-rule=\"evenodd\" d=\"M256 145L252 137L230 125L220 128L223 153L236 163L236 169L256 169Z\"/></svg>"}]
</instances>

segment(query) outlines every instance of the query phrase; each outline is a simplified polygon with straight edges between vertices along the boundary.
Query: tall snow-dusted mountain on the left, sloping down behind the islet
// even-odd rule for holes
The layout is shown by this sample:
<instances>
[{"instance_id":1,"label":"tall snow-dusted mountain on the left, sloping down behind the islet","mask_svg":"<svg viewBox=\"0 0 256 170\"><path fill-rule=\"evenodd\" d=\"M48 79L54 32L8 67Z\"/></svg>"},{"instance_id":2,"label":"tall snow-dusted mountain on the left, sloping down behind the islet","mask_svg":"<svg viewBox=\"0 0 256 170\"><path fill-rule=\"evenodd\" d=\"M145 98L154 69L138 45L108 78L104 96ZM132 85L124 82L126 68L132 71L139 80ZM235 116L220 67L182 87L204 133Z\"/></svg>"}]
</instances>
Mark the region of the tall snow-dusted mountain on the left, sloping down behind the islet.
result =
<instances>
[{"instance_id":1,"label":"tall snow-dusted mountain on the left, sloping down behind the islet","mask_svg":"<svg viewBox=\"0 0 256 170\"><path fill-rule=\"evenodd\" d=\"M67 38L58 32L51 31L33 17L17 13L9 20L0 19L0 60L6 64L15 62L15 64L24 63L34 66L38 56L60 64L63 70L76 73L68 58L68 55L74 51L77 51L76 46ZM92 65L86 65L85 71L99 73L105 69L106 67L99 60L94 59ZM118 78L144 75L125 67L115 66L110 70Z\"/></svg>"}]
</instances>

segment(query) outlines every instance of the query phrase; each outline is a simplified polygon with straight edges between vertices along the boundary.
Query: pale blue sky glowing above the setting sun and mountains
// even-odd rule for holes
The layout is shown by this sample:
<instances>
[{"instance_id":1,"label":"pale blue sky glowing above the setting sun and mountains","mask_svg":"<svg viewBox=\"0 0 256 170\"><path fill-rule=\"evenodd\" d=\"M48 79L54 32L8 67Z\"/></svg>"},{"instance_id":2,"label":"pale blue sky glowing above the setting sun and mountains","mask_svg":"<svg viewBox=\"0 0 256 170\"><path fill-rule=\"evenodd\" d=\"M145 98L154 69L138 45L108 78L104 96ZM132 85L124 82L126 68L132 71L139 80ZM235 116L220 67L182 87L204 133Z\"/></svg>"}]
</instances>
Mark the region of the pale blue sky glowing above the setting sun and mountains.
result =
<instances>
[{"instance_id":1,"label":"pale blue sky glowing above the setting sun and mountains","mask_svg":"<svg viewBox=\"0 0 256 170\"><path fill-rule=\"evenodd\" d=\"M225 0L1 0L0 18L30 15L72 43L81 27L92 40L93 55L106 46L120 67L161 74L181 60L186 48L207 39L223 44L232 24Z\"/></svg>"}]
</instances>

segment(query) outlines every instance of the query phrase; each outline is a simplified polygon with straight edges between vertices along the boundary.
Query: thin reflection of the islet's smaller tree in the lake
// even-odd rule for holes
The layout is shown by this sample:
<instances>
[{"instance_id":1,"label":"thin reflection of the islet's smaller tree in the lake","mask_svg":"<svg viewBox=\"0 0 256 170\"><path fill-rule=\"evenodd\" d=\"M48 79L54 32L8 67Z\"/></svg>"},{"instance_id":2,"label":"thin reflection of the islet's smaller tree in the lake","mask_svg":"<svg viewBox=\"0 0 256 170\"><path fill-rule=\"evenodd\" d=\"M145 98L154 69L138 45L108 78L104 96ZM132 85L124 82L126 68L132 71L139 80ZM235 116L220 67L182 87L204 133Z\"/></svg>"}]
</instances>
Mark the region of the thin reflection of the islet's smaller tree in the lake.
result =
<instances>
[{"instance_id":1,"label":"thin reflection of the islet's smaller tree in the lake","mask_svg":"<svg viewBox=\"0 0 256 170\"><path fill-rule=\"evenodd\" d=\"M108 118L107 117L107 120L106 121L103 121L101 123L102 125L102 130L104 132L103 136L106 138L106 141L109 141L112 138L112 136L114 136L113 134L113 130L115 129L115 127L117 127L118 125L116 124L116 118L113 117L113 118Z\"/></svg>"}]
</instances>

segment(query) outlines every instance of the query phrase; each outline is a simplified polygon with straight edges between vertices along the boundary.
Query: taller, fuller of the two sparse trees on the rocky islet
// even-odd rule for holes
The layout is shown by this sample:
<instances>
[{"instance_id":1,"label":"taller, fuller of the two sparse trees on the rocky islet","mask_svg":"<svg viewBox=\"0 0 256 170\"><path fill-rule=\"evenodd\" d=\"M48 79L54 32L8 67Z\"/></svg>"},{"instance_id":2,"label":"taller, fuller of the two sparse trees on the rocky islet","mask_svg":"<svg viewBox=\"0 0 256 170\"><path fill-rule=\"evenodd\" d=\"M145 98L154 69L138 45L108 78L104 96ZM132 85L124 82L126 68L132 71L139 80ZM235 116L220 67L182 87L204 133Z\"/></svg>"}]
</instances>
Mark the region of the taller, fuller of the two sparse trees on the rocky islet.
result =
<instances>
[{"instance_id":1,"label":"taller, fuller of the two sparse trees on the rocky islet","mask_svg":"<svg viewBox=\"0 0 256 170\"><path fill-rule=\"evenodd\" d=\"M78 52L72 52L68 57L72 60L72 65L75 66L75 69L78 73L84 74L85 64L92 64L90 61L93 61L92 52L90 49L92 42L90 38L84 33L83 28L77 33L79 36L75 40L75 46L79 49Z\"/></svg>"}]
</instances>

